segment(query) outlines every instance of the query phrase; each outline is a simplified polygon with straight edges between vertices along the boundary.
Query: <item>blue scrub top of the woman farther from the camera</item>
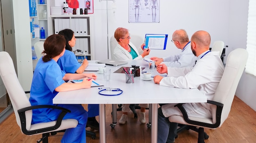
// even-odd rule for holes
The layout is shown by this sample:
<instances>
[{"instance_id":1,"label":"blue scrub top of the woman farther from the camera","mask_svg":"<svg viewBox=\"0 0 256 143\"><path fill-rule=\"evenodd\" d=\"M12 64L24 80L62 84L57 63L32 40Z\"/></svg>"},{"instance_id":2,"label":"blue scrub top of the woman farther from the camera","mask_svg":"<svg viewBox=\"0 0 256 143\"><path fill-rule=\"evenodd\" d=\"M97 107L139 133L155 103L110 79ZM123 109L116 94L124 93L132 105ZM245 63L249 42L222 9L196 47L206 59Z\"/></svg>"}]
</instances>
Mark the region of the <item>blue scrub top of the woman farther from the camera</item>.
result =
<instances>
[{"instance_id":1,"label":"blue scrub top of the woman farther from the camera","mask_svg":"<svg viewBox=\"0 0 256 143\"><path fill-rule=\"evenodd\" d=\"M76 70L81 66L76 59L76 55L70 50L65 50L64 55L58 59L57 63L63 72L72 74L76 73Z\"/></svg>"}]
</instances>

